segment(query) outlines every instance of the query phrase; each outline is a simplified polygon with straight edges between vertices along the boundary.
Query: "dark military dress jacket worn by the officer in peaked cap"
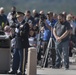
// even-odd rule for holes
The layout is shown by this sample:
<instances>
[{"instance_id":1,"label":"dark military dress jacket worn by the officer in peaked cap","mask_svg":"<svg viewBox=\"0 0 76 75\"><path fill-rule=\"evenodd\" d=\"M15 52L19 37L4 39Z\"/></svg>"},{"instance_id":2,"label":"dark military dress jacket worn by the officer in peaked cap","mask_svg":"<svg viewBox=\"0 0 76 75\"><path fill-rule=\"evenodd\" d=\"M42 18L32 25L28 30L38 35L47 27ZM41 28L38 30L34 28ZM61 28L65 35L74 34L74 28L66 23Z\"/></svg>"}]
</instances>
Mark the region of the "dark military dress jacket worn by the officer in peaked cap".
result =
<instances>
[{"instance_id":1,"label":"dark military dress jacket worn by the officer in peaked cap","mask_svg":"<svg viewBox=\"0 0 76 75\"><path fill-rule=\"evenodd\" d=\"M20 25L23 25L23 28L20 29ZM29 41L28 41L28 35L29 35L29 25L28 23L25 23L25 20L21 22L21 24L16 24L18 32L15 32L15 48L28 48Z\"/></svg>"}]
</instances>

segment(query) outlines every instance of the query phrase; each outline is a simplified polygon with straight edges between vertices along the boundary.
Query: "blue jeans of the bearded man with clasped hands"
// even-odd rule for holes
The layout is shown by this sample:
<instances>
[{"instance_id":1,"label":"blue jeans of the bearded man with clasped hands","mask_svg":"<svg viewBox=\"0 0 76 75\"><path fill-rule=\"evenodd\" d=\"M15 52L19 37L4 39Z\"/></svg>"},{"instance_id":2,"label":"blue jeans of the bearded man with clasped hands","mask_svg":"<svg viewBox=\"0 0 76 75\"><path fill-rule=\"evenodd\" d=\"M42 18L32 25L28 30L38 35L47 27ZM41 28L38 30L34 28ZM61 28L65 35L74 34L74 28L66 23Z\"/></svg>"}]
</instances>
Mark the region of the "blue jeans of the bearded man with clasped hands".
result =
<instances>
[{"instance_id":1,"label":"blue jeans of the bearded man with clasped hands","mask_svg":"<svg viewBox=\"0 0 76 75\"><path fill-rule=\"evenodd\" d=\"M56 66L61 66L61 60L62 60L62 52L64 56L64 66L65 68L69 68L69 41L55 43L56 48Z\"/></svg>"}]
</instances>

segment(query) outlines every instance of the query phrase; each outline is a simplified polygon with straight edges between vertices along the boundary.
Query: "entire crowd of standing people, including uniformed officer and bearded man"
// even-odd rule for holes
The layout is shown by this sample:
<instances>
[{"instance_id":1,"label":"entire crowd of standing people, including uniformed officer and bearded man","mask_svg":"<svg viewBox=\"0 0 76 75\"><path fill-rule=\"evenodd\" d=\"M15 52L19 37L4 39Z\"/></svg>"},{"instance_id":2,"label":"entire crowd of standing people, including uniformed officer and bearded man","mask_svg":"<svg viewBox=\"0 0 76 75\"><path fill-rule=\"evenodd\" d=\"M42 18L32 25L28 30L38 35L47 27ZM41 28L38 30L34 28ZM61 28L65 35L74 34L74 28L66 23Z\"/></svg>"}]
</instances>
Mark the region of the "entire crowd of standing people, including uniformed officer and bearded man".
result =
<instances>
[{"instance_id":1,"label":"entire crowd of standing people, including uniformed officer and bearded man","mask_svg":"<svg viewBox=\"0 0 76 75\"><path fill-rule=\"evenodd\" d=\"M6 15L0 7L0 30L11 39L13 64L10 74L16 74L18 69L19 75L25 74L29 47L37 48L38 60L41 60L42 50L44 58L50 38L55 43L55 49L51 49L52 68L61 67L63 53L64 67L69 69L69 56L72 56L72 47L76 46L76 16L72 13L48 11L45 14L36 9L23 13L13 6Z\"/></svg>"}]
</instances>

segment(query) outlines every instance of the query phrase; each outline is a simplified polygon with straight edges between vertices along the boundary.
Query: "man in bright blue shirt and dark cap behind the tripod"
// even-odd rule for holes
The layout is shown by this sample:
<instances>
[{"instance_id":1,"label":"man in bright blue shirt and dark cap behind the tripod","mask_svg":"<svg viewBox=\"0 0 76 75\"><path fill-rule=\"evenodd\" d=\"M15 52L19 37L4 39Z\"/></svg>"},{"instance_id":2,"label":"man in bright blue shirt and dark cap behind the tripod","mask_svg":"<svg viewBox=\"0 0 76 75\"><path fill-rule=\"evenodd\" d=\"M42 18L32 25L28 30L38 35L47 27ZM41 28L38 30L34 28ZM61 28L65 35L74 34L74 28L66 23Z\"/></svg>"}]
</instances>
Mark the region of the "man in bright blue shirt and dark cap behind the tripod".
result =
<instances>
[{"instance_id":1,"label":"man in bright blue shirt and dark cap behind the tripod","mask_svg":"<svg viewBox=\"0 0 76 75\"><path fill-rule=\"evenodd\" d=\"M47 20L45 21L44 25L44 33L43 33L43 51L44 55L47 49L47 45L49 42L50 37L54 38L52 31L56 21L53 19L53 12L47 13ZM52 67L55 65L55 50L51 49L51 57L52 57Z\"/></svg>"}]
</instances>

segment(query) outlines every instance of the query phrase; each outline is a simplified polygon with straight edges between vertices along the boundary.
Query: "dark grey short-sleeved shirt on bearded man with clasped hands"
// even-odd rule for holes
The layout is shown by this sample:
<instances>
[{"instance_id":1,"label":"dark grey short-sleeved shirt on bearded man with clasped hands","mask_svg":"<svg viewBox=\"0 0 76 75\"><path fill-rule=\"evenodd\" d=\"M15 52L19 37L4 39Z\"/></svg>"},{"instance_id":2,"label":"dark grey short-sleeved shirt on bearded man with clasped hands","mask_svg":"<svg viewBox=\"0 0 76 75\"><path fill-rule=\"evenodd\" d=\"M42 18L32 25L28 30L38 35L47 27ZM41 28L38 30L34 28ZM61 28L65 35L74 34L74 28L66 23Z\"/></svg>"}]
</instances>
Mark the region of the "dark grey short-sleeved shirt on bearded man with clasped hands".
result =
<instances>
[{"instance_id":1,"label":"dark grey short-sleeved shirt on bearded man with clasped hands","mask_svg":"<svg viewBox=\"0 0 76 75\"><path fill-rule=\"evenodd\" d=\"M67 21L65 21L62 24L57 22L55 25L56 35L60 37L65 33L66 30L70 30L70 28L71 28L70 24ZM67 41L67 40L69 40L69 34L64 39L62 39L62 42Z\"/></svg>"}]
</instances>

